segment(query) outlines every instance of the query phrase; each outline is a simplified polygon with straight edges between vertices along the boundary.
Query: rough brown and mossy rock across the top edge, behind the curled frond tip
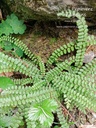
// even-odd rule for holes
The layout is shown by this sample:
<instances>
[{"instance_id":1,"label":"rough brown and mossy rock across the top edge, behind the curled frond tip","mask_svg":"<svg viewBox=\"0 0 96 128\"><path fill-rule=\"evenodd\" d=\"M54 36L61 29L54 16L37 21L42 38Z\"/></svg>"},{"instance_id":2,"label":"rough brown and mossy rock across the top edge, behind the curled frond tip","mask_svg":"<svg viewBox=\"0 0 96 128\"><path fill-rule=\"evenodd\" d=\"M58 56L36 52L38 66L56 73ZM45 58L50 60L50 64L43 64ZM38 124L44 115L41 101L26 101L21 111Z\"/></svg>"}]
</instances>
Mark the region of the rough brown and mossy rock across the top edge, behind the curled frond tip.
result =
<instances>
[{"instance_id":1,"label":"rough brown and mossy rock across the top edge, behind the curled frond tip","mask_svg":"<svg viewBox=\"0 0 96 128\"><path fill-rule=\"evenodd\" d=\"M8 7L24 20L57 20L57 12L62 9L75 9L86 16L86 19L96 20L95 0L0 0L0 4ZM3 8L6 11L7 8ZM4 11L3 11L4 12ZM10 13L10 12L8 12Z\"/></svg>"}]
</instances>

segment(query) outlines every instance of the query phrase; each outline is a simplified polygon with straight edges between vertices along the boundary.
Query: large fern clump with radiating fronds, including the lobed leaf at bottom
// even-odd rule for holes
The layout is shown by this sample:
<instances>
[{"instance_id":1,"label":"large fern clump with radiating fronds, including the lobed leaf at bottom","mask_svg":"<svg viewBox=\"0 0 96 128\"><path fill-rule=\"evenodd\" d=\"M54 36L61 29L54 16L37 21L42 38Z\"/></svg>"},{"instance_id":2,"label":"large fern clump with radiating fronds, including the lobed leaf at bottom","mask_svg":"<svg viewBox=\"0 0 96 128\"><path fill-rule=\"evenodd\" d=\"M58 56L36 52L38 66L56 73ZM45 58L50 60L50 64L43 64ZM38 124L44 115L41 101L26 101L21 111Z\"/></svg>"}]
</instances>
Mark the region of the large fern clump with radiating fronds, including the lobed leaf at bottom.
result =
<instances>
[{"instance_id":1,"label":"large fern clump with radiating fronds, including the lobed leaf at bottom","mask_svg":"<svg viewBox=\"0 0 96 128\"><path fill-rule=\"evenodd\" d=\"M53 113L57 113L58 127L69 128L62 101L83 112L86 109L96 111L96 59L83 65L86 48L96 41L94 36L88 35L85 18L78 12L67 10L58 16L78 18L78 39L55 50L46 64L22 41L11 36L0 37L0 42L15 44L27 56L27 59L18 59L0 52L0 73L14 71L26 75L23 79L10 78L13 86L2 88L0 85L1 128L18 128L25 123L27 128L50 128L54 122ZM76 51L76 55L59 62L61 55L72 51Z\"/></svg>"}]
</instances>

